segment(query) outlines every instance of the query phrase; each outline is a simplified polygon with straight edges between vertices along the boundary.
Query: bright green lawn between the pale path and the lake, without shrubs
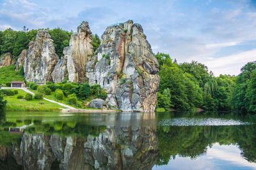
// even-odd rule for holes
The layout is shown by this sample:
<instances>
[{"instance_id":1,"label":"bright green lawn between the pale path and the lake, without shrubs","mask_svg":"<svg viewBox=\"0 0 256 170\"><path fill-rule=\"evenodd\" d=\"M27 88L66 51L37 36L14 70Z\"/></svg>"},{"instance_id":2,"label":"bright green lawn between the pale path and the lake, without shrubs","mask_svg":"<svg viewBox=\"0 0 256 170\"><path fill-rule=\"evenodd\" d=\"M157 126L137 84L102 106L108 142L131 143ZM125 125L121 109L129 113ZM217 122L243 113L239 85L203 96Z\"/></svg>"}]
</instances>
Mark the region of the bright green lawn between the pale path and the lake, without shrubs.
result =
<instances>
[{"instance_id":1,"label":"bright green lawn between the pale path and the lake, without shrubs","mask_svg":"<svg viewBox=\"0 0 256 170\"><path fill-rule=\"evenodd\" d=\"M60 108L65 108L56 103L51 103L49 101L33 99L31 101L22 101L22 99L17 99L18 95L25 96L27 93L23 90L18 90L19 94L15 96L4 96L7 100L6 111L60 111ZM39 101L44 101L44 104L39 104Z\"/></svg>"}]
</instances>

